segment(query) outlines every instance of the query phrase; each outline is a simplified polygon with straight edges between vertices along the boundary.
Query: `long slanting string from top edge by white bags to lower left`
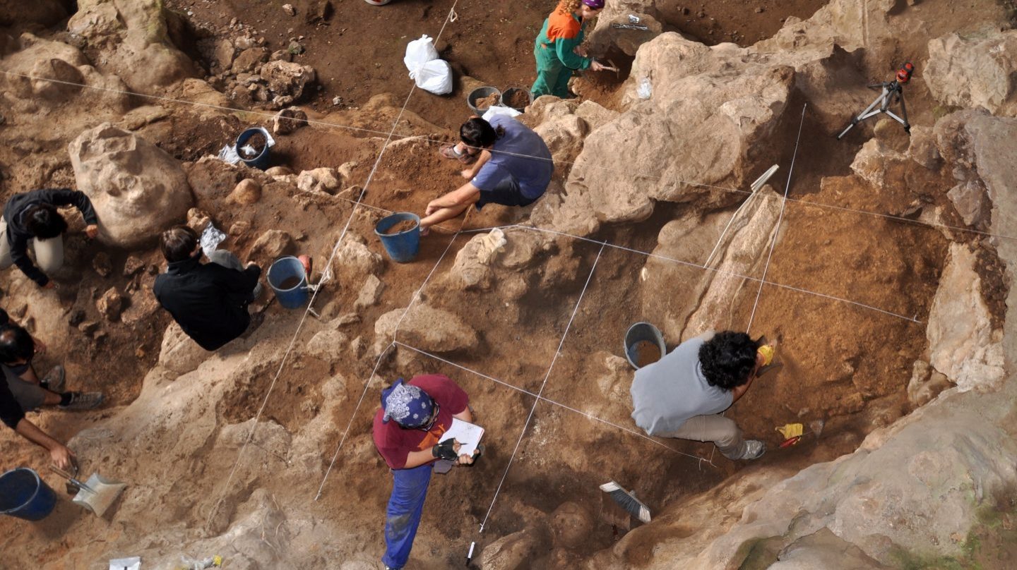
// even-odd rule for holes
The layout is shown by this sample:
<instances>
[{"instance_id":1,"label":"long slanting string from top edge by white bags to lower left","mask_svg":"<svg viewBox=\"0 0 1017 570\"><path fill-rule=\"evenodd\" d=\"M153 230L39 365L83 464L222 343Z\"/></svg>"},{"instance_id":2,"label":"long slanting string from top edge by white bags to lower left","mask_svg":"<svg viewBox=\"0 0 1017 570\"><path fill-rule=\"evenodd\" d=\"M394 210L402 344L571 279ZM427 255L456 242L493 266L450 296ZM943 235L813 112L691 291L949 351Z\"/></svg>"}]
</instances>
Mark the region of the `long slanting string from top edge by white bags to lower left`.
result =
<instances>
[{"instance_id":1,"label":"long slanting string from top edge by white bags to lower left","mask_svg":"<svg viewBox=\"0 0 1017 570\"><path fill-rule=\"evenodd\" d=\"M444 21L441 24L441 29L438 31L438 36L435 37L435 42L437 41L438 38L440 38L441 33L444 31L445 25L447 25L448 23L448 16L455 13L454 10L456 8L456 3L459 0L453 2L453 6L450 9L448 14L445 16ZM322 278L318 282L319 287L314 289L311 298L307 303L307 307L306 309L304 309L304 313L300 317L300 321L297 324L297 329L293 332L293 337L290 339L290 343L286 349L286 353L283 355L283 358L280 361L279 369L276 371L276 375L273 377L272 382L268 384L268 389L267 391L265 391L264 398L261 401L261 405L258 407L257 414L254 416L254 423L251 425L251 429L247 432L247 436L244 438L243 445L241 445L240 450L237 452L237 459L233 463L233 467L230 469L229 477L227 477L226 479L226 483L223 486L223 492L220 494L220 498L213 504L212 509L208 512L208 518L205 521L206 529L211 528L212 519L215 517L216 513L219 511L219 507L225 500L226 493L230 489L230 484L233 482L233 478L236 474L237 468L240 465L240 461L243 459L244 451L247 449L247 446L250 444L251 440L254 437L254 430L257 429L258 420L260 420L261 414L264 411L264 408L268 403L268 399L272 396L272 391L275 388L276 383L279 381L279 377L283 373L283 367L286 365L286 362L288 361L290 354L293 352L293 346L296 344L297 337L300 335L300 331L303 329L304 323L307 321L307 315L310 313L311 307L314 305L314 300L317 299L317 294L321 290L320 286L327 280L325 275L327 275L332 270L333 260L336 258L336 254L339 251L339 247L343 243L343 238L346 237L346 233L347 231L349 231L350 225L353 223L353 218L357 214L357 209L360 207L360 202L363 200L364 195L367 193L367 188L370 186L371 181L374 179L374 173L377 172L378 166L381 164L381 159L384 156L384 151L388 147L388 143L392 142L392 138L396 132L397 127L399 126L399 121L400 119L402 119L403 113L406 111L407 106L410 104L410 100L413 97L413 93L416 90L416 88L417 88L416 84L410 87L410 92L406 96L406 101L403 103L402 109L400 109L399 114L396 116L396 120L393 121L392 130L388 131L388 135L385 138L384 143L381 145L381 149L378 152L378 156L377 159L375 159L374 165L371 167L371 171L367 175L367 180L364 182L364 186L360 190L360 195L357 196L357 202L353 205L353 208L350 211L350 216L347 218L346 225L343 227L343 231L340 233L339 238L336 240L336 245L332 248L332 252L328 255L328 260L325 262L325 271L322 273ZM451 245L452 243L450 242L450 246ZM447 251L447 248L445 251ZM380 363L380 357L378 357L378 363ZM377 365L375 365L375 368L377 368ZM363 399L363 396L361 396L361 399Z\"/></svg>"}]
</instances>

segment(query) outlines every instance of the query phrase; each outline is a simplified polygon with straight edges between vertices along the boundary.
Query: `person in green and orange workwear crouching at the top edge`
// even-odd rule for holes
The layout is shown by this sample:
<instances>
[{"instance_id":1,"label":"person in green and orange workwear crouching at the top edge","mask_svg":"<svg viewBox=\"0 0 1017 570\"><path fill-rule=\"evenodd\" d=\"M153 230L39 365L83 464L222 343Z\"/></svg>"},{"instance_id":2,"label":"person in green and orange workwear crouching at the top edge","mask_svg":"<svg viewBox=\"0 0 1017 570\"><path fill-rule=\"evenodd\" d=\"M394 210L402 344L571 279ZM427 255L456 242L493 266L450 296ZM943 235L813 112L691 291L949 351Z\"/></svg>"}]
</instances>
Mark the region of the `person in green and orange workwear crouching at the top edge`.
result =
<instances>
[{"instance_id":1,"label":"person in green and orange workwear crouching at the top edge","mask_svg":"<svg viewBox=\"0 0 1017 570\"><path fill-rule=\"evenodd\" d=\"M582 49L586 20L604 9L604 0L560 0L537 35L533 57L537 60L537 80L530 89L533 97L552 94L569 97L569 78L573 71L603 66L587 57Z\"/></svg>"}]
</instances>

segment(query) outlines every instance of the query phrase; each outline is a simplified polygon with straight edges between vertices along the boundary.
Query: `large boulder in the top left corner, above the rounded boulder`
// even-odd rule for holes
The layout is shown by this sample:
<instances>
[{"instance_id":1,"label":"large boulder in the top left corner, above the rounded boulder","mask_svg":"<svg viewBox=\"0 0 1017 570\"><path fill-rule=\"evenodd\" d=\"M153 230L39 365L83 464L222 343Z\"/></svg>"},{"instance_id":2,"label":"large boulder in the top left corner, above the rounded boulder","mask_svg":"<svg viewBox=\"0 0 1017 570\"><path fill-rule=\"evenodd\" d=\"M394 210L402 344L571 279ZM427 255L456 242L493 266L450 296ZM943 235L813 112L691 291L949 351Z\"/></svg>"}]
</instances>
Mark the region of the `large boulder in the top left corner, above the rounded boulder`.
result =
<instances>
[{"instance_id":1,"label":"large boulder in the top left corner, above the rounded boulder","mask_svg":"<svg viewBox=\"0 0 1017 570\"><path fill-rule=\"evenodd\" d=\"M101 69L119 75L132 90L160 92L198 68L170 38L168 18L174 16L162 0L79 0L67 30L103 51Z\"/></svg>"}]
</instances>

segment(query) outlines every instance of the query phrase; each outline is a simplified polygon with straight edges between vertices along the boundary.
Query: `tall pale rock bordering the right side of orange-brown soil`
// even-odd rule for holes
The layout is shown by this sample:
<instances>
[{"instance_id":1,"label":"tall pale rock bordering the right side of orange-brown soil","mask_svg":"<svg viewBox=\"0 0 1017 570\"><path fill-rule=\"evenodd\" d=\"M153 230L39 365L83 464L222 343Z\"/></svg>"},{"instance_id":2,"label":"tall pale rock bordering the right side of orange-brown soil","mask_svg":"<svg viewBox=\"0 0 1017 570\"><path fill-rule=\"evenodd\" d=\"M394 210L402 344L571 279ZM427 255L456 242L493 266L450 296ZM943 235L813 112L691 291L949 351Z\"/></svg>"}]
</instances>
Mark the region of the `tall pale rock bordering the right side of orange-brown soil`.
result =
<instances>
[{"instance_id":1,"label":"tall pale rock bordering the right side of orange-brown soil","mask_svg":"<svg viewBox=\"0 0 1017 570\"><path fill-rule=\"evenodd\" d=\"M993 328L976 263L966 244L950 246L925 331L930 364L961 390L994 389L1004 378L1003 330Z\"/></svg>"}]
</instances>

